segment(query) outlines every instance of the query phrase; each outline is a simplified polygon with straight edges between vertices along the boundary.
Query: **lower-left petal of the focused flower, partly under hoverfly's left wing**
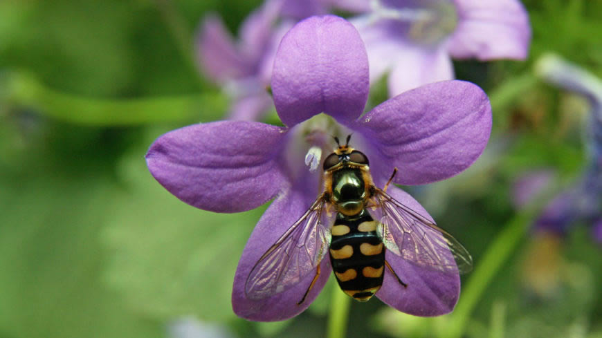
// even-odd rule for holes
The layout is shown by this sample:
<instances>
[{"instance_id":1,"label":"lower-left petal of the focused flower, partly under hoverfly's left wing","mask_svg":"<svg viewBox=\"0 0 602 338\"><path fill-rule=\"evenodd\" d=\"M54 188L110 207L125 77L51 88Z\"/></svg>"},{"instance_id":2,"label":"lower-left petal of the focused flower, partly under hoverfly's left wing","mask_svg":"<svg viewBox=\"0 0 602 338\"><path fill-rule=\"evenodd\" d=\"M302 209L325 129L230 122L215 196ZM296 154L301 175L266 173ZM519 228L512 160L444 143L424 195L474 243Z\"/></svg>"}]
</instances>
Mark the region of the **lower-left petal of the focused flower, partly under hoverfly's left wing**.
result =
<instances>
[{"instance_id":1,"label":"lower-left petal of the focused flower, partly under hoverfly's left wing","mask_svg":"<svg viewBox=\"0 0 602 338\"><path fill-rule=\"evenodd\" d=\"M297 303L309 288L315 272L309 272L300 283L273 297L253 300L245 294L246 280L255 263L307 211L310 204L306 196L289 192L276 198L255 226L234 277L232 308L239 317L253 321L280 321L294 317L304 311L324 288L331 272L328 257L322 259L320 276L301 305Z\"/></svg>"}]
</instances>

